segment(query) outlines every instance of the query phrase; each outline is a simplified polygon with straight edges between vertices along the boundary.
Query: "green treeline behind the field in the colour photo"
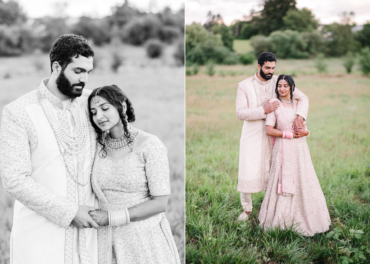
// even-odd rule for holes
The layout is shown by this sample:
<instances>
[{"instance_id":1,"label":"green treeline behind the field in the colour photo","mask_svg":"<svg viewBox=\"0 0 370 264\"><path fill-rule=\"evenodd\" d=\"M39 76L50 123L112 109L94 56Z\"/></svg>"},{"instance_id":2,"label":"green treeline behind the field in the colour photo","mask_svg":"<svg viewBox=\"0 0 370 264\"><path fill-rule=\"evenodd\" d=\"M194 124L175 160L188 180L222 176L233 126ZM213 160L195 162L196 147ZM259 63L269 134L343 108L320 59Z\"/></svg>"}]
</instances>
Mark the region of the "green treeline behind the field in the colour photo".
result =
<instances>
[{"instance_id":1,"label":"green treeline behind the field in the colour photo","mask_svg":"<svg viewBox=\"0 0 370 264\"><path fill-rule=\"evenodd\" d=\"M340 57L369 47L370 24L356 26L353 12L343 12L341 18L341 23L319 25L309 9L296 8L295 0L266 0L263 10L252 10L229 27L220 14L209 11L203 26L185 27L186 64L245 63L263 51L279 58ZM243 61L233 51L235 38L249 39L254 49L252 54L243 54Z\"/></svg>"}]
</instances>

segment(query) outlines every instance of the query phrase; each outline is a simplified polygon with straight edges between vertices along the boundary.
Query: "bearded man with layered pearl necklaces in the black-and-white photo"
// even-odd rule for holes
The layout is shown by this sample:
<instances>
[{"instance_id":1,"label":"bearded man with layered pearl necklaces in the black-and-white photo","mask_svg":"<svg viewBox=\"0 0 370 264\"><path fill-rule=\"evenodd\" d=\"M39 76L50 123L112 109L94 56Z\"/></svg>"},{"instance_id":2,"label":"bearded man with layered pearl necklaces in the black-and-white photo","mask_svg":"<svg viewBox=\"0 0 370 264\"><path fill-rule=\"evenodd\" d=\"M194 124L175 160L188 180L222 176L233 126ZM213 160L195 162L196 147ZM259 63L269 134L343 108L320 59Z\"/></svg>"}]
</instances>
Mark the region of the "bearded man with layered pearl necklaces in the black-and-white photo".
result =
<instances>
[{"instance_id":1,"label":"bearded man with layered pearl necklaces in the black-and-white photo","mask_svg":"<svg viewBox=\"0 0 370 264\"><path fill-rule=\"evenodd\" d=\"M0 169L16 199L13 264L97 264L98 225L88 214L95 209L95 131L84 89L93 56L84 37L60 36L50 50L50 78L4 107Z\"/></svg>"}]
</instances>

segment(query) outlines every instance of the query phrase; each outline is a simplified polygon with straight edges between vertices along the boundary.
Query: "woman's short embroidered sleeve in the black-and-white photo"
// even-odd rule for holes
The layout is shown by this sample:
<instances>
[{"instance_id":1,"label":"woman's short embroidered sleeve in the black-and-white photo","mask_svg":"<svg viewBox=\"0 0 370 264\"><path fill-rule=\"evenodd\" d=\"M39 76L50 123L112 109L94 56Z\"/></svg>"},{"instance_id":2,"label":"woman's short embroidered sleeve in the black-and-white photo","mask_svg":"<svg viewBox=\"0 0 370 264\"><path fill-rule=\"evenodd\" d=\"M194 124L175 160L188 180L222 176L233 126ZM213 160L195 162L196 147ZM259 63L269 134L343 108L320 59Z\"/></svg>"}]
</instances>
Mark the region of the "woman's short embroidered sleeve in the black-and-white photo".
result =
<instances>
[{"instance_id":1,"label":"woman's short embroidered sleeve in the black-and-white photo","mask_svg":"<svg viewBox=\"0 0 370 264\"><path fill-rule=\"evenodd\" d=\"M170 194L166 147L156 136L152 136L148 146L145 148L144 155L145 175L148 180L149 193L153 196Z\"/></svg>"}]
</instances>

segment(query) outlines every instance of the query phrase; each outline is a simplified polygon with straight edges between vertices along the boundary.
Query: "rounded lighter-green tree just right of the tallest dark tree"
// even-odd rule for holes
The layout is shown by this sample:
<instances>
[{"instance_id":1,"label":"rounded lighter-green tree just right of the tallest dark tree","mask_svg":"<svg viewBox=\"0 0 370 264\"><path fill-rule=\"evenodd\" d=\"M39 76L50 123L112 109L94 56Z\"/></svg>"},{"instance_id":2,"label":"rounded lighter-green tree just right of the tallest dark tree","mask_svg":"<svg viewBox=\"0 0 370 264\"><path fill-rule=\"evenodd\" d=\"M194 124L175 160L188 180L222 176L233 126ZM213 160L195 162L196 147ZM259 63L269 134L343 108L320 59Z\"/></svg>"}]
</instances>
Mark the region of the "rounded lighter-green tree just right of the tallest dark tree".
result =
<instances>
[{"instance_id":1,"label":"rounded lighter-green tree just right of the tallest dark tree","mask_svg":"<svg viewBox=\"0 0 370 264\"><path fill-rule=\"evenodd\" d=\"M286 12L283 17L284 26L286 29L296 30L296 31L312 31L316 30L319 23L312 15L311 10L307 8L290 9Z\"/></svg>"}]
</instances>

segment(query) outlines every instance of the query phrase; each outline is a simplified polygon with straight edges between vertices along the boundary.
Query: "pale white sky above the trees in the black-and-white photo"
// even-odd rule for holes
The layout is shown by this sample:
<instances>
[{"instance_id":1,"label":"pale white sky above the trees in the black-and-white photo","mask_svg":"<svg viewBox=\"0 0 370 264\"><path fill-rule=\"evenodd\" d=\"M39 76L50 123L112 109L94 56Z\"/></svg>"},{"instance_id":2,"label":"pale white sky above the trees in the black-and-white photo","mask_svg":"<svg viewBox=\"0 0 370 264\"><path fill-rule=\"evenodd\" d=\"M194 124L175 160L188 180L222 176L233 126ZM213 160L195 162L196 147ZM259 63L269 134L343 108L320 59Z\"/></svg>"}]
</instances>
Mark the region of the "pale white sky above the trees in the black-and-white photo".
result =
<instances>
[{"instance_id":1,"label":"pale white sky above the trees in the black-and-white photo","mask_svg":"<svg viewBox=\"0 0 370 264\"><path fill-rule=\"evenodd\" d=\"M5 0L7 2L8 0ZM58 4L65 3L65 14L68 17L90 16L101 18L112 14L111 8L122 6L125 0L15 0L17 1L28 18L54 16L57 14ZM136 7L140 11L157 13L166 6L177 11L184 6L185 0L129 0L129 6ZM60 10L60 9L59 9ZM58 14L57 14L58 15Z\"/></svg>"}]
</instances>

